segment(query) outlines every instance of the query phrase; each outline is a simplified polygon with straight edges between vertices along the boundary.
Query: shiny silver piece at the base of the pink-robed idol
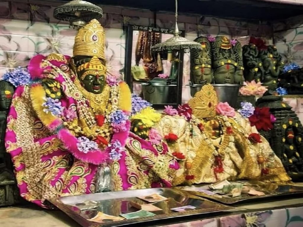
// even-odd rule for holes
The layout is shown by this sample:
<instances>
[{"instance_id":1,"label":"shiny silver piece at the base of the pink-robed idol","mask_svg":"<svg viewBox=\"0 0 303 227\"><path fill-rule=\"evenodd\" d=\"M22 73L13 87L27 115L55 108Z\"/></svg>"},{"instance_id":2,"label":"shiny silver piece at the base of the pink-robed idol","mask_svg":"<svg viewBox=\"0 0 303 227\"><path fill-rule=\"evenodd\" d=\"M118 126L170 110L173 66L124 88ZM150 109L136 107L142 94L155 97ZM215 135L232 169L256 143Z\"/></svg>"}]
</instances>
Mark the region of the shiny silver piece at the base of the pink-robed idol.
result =
<instances>
[{"instance_id":1,"label":"shiny silver piece at the base of the pink-robed idol","mask_svg":"<svg viewBox=\"0 0 303 227\"><path fill-rule=\"evenodd\" d=\"M111 169L108 164L101 164L98 166L95 179L96 179L95 193L112 191Z\"/></svg>"}]
</instances>

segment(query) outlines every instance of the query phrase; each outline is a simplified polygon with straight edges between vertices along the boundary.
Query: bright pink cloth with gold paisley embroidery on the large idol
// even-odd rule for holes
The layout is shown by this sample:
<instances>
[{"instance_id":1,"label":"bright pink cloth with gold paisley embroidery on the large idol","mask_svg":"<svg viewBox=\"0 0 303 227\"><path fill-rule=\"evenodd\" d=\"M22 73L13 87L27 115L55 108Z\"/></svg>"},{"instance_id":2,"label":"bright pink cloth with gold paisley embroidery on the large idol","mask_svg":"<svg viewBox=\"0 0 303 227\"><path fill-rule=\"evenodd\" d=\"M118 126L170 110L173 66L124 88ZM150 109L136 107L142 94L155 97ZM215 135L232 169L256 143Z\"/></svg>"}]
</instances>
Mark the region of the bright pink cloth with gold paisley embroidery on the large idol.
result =
<instances>
[{"instance_id":1,"label":"bright pink cloth with gold paisley embroidery on the large idol","mask_svg":"<svg viewBox=\"0 0 303 227\"><path fill-rule=\"evenodd\" d=\"M68 65L62 64L67 63L69 57L60 56L60 59L52 59L51 63L62 71L62 66L65 66L64 72L70 73ZM60 72L45 67L42 59L40 57L40 62L35 62L36 67L32 68L37 74L32 75L33 79L43 75L57 81L65 93L60 100L62 107L77 111L77 101L66 95L68 86ZM21 196L47 207L44 201L48 198L95 192L98 166L75 158L37 115L30 86L17 87L8 113L5 146L12 156ZM76 117L79 118L78 114ZM165 144L155 146L130 133L122 158L112 163L114 190L171 186L174 169L169 168L171 160L166 153Z\"/></svg>"}]
</instances>

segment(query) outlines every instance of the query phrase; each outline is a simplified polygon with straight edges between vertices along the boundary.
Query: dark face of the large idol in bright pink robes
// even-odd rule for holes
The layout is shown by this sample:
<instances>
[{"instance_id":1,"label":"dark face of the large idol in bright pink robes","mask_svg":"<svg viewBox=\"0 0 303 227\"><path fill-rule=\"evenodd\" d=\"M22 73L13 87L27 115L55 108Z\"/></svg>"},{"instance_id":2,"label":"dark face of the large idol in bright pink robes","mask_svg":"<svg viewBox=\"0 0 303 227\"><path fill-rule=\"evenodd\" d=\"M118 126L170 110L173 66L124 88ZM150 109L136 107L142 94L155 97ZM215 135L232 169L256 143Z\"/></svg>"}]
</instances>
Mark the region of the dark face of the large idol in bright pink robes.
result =
<instances>
[{"instance_id":1,"label":"dark face of the large idol in bright pink robes","mask_svg":"<svg viewBox=\"0 0 303 227\"><path fill-rule=\"evenodd\" d=\"M105 87L104 71L87 69L78 73L82 86L88 92L101 94Z\"/></svg>"}]
</instances>

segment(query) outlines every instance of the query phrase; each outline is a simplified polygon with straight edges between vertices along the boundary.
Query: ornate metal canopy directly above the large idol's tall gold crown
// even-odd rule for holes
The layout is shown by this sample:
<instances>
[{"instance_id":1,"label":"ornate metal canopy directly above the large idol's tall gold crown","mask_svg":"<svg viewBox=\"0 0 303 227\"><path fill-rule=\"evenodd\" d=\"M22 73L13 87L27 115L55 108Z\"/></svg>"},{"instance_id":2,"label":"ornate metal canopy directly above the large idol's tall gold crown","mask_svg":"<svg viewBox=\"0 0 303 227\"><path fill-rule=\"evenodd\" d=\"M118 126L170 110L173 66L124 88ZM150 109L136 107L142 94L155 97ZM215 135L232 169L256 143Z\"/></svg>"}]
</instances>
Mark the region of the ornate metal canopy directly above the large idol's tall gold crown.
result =
<instances>
[{"instance_id":1,"label":"ornate metal canopy directly above the large idol's tall gold crown","mask_svg":"<svg viewBox=\"0 0 303 227\"><path fill-rule=\"evenodd\" d=\"M101 7L90 2L73 0L54 10L54 18L69 21L73 26L84 26L87 21L103 16Z\"/></svg>"}]
</instances>

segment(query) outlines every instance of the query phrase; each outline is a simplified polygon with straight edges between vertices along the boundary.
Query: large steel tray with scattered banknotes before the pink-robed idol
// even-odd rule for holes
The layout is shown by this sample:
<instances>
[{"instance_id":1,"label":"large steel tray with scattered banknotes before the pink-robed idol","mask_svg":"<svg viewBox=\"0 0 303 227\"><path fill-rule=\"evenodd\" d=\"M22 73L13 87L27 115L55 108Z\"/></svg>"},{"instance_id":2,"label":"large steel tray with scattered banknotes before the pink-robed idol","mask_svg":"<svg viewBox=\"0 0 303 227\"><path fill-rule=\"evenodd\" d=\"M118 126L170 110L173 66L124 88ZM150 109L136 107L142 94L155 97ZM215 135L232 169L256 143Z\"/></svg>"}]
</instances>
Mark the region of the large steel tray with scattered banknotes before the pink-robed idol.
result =
<instances>
[{"instance_id":1,"label":"large steel tray with scattered banknotes before the pink-robed idol","mask_svg":"<svg viewBox=\"0 0 303 227\"><path fill-rule=\"evenodd\" d=\"M154 206L161 208L161 211L154 211L155 216L152 217L142 217L136 219L124 219L122 221L115 222L104 222L96 223L88 221L88 219L93 218L97 212L103 212L108 215L119 216L121 213L129 213L137 211L130 205L130 201L138 203L147 203L137 196L147 196L151 194L159 194L166 198L166 201L155 202ZM80 210L76 206L77 203L84 201L95 201L98 203L98 207L89 210ZM163 220L163 219L174 219L182 216L193 216L204 213L211 212L222 212L233 207L222 205L216 202L203 199L201 197L191 195L187 192L178 189L167 189L167 188L155 188L155 189L138 189L138 190L128 190L128 191L118 191L118 192L103 192L79 196L66 196L49 199L49 202L54 204L60 210L69 215L72 219L78 222L82 226L125 226L134 223L143 223L148 226L146 222ZM195 210L185 211L185 212L175 212L171 208L181 207L191 205L195 206Z\"/></svg>"}]
</instances>

